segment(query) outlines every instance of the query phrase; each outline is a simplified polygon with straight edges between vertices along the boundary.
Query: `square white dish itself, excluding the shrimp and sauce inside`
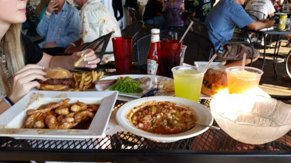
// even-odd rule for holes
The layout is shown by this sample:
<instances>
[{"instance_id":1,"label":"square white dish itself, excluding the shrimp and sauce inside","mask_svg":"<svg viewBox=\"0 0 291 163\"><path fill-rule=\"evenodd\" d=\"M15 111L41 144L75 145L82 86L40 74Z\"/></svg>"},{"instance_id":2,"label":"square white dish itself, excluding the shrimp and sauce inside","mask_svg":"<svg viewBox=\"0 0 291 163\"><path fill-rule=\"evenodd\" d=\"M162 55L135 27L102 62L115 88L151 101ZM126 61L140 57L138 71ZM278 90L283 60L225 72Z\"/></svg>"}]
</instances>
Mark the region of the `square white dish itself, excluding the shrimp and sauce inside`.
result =
<instances>
[{"instance_id":1,"label":"square white dish itself, excluding the shrimp and sauce inside","mask_svg":"<svg viewBox=\"0 0 291 163\"><path fill-rule=\"evenodd\" d=\"M31 91L15 105L0 115L0 136L25 139L86 139L104 136L118 91ZM100 104L88 129L25 129L27 110L42 104L61 102L69 98L69 104L78 100L85 104Z\"/></svg>"}]
</instances>

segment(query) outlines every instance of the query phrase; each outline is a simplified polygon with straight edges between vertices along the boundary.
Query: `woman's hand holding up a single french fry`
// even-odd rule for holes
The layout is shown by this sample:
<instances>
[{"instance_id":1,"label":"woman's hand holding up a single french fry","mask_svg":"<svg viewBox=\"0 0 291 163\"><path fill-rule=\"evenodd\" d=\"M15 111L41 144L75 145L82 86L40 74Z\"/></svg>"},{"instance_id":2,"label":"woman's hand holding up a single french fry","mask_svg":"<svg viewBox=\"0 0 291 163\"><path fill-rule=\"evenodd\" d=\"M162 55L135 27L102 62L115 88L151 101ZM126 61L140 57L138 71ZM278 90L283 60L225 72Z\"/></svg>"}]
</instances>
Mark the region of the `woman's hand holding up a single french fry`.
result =
<instances>
[{"instance_id":1,"label":"woman's hand holding up a single french fry","mask_svg":"<svg viewBox=\"0 0 291 163\"><path fill-rule=\"evenodd\" d=\"M72 54L74 63L81 58L82 55L86 55L85 59L80 62L78 67L87 67L94 69L97 67L97 63L100 62L100 59L96 57L95 52L92 49L86 49L81 52L75 52Z\"/></svg>"}]
</instances>

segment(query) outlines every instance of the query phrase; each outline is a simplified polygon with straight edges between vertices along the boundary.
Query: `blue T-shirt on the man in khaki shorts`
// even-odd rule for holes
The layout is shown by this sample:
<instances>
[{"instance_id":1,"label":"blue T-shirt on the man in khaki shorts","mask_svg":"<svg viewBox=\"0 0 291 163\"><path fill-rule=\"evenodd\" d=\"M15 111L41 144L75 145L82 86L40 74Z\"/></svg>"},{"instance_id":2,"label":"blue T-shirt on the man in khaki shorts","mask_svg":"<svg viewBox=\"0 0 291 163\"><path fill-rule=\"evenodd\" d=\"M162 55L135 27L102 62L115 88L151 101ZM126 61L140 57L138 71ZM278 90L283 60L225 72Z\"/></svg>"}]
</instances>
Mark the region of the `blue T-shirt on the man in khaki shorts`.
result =
<instances>
[{"instance_id":1,"label":"blue T-shirt on the man in khaki shorts","mask_svg":"<svg viewBox=\"0 0 291 163\"><path fill-rule=\"evenodd\" d=\"M245 12L240 4L233 0L220 0L208 13L204 21L208 30L213 31L221 41L229 42L233 36L235 27L243 28L254 20ZM211 33L210 40L219 49L221 42Z\"/></svg>"}]
</instances>

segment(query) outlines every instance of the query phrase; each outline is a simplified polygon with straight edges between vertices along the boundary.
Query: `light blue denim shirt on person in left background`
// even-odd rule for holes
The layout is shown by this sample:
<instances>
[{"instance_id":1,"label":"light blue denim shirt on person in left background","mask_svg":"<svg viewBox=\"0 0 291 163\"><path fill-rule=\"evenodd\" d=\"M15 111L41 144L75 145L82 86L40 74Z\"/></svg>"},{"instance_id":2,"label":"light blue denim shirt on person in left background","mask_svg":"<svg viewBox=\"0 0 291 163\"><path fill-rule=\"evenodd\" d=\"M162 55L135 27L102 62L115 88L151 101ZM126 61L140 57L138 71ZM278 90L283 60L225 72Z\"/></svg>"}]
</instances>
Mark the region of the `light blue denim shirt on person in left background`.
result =
<instances>
[{"instance_id":1,"label":"light blue denim shirt on person in left background","mask_svg":"<svg viewBox=\"0 0 291 163\"><path fill-rule=\"evenodd\" d=\"M79 11L65 2L62 10L55 15L53 11L48 16L43 16L36 30L40 36L46 39L38 44L40 48L47 43L57 43L57 47L67 47L70 43L78 40L81 33Z\"/></svg>"}]
</instances>

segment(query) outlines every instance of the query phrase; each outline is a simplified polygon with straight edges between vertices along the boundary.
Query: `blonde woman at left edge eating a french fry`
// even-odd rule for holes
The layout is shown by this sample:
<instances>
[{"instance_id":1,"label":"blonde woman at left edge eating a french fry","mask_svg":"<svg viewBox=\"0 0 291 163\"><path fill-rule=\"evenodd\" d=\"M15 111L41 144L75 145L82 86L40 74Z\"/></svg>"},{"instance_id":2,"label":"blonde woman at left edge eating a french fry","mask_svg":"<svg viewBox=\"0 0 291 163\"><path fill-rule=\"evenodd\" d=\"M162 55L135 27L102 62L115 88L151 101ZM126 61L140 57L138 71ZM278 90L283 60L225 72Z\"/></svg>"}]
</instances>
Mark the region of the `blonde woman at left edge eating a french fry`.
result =
<instances>
[{"instance_id":1,"label":"blonde woman at left edge eating a french fry","mask_svg":"<svg viewBox=\"0 0 291 163\"><path fill-rule=\"evenodd\" d=\"M62 67L68 70L86 53L86 61L78 67L96 68L100 59L92 49L70 56L50 56L21 34L25 22L26 0L0 0L0 114L19 101L32 88L39 88L38 80L46 80L45 68ZM85 60L85 59L84 59Z\"/></svg>"}]
</instances>

